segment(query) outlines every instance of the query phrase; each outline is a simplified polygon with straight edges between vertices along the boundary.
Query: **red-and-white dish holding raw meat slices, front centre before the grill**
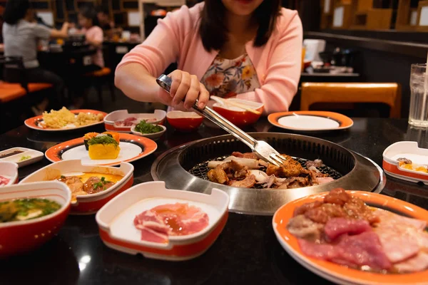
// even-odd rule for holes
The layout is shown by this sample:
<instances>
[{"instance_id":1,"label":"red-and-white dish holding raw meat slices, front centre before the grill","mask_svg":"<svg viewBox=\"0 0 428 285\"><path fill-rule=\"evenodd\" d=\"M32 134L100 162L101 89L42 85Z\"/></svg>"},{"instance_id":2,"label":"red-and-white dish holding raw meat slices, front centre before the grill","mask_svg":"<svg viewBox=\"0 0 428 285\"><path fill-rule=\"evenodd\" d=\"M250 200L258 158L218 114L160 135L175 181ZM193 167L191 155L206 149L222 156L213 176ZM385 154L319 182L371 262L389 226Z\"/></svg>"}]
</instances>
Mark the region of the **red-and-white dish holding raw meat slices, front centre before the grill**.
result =
<instances>
[{"instance_id":1,"label":"red-and-white dish holding raw meat slices, front centre before the grill","mask_svg":"<svg viewBox=\"0 0 428 285\"><path fill-rule=\"evenodd\" d=\"M141 240L141 231L133 224L136 215L163 204L185 203L208 215L208 226L194 234L169 236L165 243ZM123 192L96 214L100 236L107 247L128 254L181 261L203 254L215 242L228 219L229 196L213 189L210 195L168 190L165 182L146 182Z\"/></svg>"}]
</instances>

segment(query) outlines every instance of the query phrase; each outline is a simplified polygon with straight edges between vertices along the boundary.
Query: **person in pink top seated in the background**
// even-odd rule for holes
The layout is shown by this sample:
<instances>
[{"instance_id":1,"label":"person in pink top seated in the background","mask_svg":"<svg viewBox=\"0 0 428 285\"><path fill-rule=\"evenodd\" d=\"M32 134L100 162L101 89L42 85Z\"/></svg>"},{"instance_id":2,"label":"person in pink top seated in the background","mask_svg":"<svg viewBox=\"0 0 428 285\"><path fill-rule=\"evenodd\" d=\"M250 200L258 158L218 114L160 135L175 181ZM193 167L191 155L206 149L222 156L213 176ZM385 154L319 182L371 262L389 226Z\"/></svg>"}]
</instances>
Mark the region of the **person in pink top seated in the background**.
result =
<instances>
[{"instance_id":1,"label":"person in pink top seated in the background","mask_svg":"<svg viewBox=\"0 0 428 285\"><path fill-rule=\"evenodd\" d=\"M103 30L98 26L96 11L87 6L78 12L78 24L81 26L81 33L86 36L86 42L96 48L96 53L92 56L92 65L85 68L86 72L97 71L104 67L103 58Z\"/></svg>"}]
</instances>

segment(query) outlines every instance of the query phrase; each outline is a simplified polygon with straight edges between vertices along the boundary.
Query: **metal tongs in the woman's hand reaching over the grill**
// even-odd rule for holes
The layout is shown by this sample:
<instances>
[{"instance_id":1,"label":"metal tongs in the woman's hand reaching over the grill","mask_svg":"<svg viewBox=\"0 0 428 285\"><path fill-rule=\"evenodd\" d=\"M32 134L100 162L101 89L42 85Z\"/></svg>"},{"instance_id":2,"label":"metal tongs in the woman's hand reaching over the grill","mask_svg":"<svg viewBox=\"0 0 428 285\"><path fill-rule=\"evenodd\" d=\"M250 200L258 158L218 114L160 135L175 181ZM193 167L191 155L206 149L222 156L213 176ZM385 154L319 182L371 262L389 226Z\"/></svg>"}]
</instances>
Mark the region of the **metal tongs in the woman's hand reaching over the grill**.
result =
<instances>
[{"instance_id":1,"label":"metal tongs in the woman's hand reaching over the grill","mask_svg":"<svg viewBox=\"0 0 428 285\"><path fill-rule=\"evenodd\" d=\"M156 82L166 92L170 93L171 84L173 83L173 80L171 78L163 74L159 76L158 79L156 79ZM230 123L222 115L215 112L215 110L209 107L199 108L198 101L196 101L195 105L193 105L193 110L195 110L196 113L202 115L208 120L211 120L213 123L215 123L215 125L218 125L220 128L223 128L223 130L227 131L235 138L245 143L245 145L248 145L248 147L250 147L250 149L253 150L256 155L258 155L258 157L265 160L266 162L269 162L270 164L276 166L280 166L285 162L286 158L280 155L280 153L277 152L267 142L263 140L255 140L254 138L250 137L250 135L245 133L237 126L233 125L233 123Z\"/></svg>"}]
</instances>

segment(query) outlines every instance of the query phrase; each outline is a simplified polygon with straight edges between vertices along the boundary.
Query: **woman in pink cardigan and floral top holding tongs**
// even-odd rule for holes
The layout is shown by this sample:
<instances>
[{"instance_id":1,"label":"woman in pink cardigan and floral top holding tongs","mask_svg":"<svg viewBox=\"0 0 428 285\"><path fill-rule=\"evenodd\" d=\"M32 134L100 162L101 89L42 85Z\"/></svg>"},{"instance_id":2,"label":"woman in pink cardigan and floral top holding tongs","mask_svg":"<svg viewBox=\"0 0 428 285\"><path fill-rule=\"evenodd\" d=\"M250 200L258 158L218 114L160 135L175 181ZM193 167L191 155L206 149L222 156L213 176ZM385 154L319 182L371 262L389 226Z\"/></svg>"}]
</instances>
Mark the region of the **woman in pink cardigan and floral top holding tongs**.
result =
<instances>
[{"instance_id":1,"label":"woman in pink cardigan and floral top holding tongs","mask_svg":"<svg viewBox=\"0 0 428 285\"><path fill-rule=\"evenodd\" d=\"M134 100L173 108L190 109L196 99L204 108L211 94L261 102L265 113L288 110L300 79L302 24L280 3L205 0L168 13L124 56L116 86ZM168 94L156 78L174 62Z\"/></svg>"}]
</instances>

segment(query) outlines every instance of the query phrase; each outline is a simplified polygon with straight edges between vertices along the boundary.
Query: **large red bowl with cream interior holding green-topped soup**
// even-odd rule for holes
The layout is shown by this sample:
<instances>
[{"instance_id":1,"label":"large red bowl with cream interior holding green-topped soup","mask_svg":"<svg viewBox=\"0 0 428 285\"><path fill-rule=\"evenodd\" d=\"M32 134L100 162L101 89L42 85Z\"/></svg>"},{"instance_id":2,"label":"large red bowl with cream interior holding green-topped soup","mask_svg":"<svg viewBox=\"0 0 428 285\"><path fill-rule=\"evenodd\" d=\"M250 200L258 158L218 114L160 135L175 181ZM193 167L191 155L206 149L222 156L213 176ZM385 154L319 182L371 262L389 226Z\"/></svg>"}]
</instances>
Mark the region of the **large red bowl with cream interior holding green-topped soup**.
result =
<instances>
[{"instance_id":1,"label":"large red bowl with cream interior holding green-topped soup","mask_svg":"<svg viewBox=\"0 0 428 285\"><path fill-rule=\"evenodd\" d=\"M36 219L0 224L0 258L24 254L54 237L70 211L71 192L61 182L35 182L0 189L0 202L20 198L46 198L59 204L58 211Z\"/></svg>"}]
</instances>

